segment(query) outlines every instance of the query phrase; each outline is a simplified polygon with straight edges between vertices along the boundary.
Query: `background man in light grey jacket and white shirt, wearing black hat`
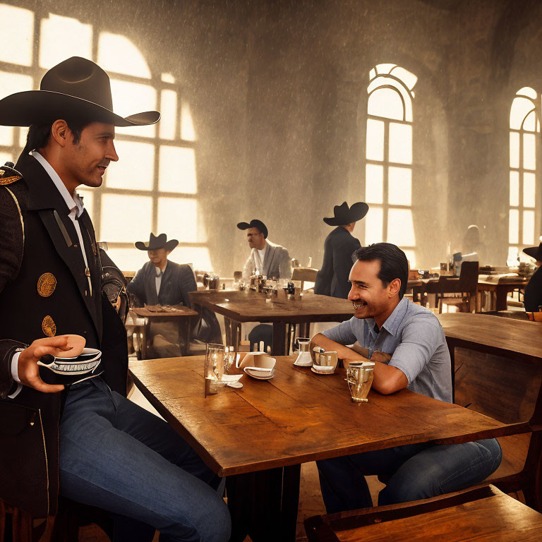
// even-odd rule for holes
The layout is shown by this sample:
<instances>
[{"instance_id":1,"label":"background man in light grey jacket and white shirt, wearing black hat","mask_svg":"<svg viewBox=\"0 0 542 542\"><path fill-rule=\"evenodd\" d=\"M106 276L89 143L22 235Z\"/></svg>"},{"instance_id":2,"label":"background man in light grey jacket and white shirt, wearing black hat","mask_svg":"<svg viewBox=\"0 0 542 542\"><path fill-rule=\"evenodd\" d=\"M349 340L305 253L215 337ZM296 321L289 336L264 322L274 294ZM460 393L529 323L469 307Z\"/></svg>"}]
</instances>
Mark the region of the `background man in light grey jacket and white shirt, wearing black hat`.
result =
<instances>
[{"instance_id":1,"label":"background man in light grey jacket and white shirt, wearing black hat","mask_svg":"<svg viewBox=\"0 0 542 542\"><path fill-rule=\"evenodd\" d=\"M287 248L276 245L267 239L267 227L258 219L251 222L239 222L239 229L246 230L246 239L251 248L243 267L243 280L248 282L251 275L263 275L268 279L291 278L290 256Z\"/></svg>"}]
</instances>

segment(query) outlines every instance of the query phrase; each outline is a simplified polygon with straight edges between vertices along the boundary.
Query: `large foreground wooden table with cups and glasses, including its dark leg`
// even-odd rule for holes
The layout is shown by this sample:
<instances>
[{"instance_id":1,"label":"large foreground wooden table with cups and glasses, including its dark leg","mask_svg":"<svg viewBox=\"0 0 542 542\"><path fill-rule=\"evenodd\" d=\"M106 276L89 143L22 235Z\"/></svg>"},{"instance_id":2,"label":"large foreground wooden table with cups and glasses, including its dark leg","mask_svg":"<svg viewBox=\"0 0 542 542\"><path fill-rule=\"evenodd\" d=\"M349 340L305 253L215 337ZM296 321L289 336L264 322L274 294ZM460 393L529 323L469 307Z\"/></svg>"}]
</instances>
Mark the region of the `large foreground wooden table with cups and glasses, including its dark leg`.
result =
<instances>
[{"instance_id":1,"label":"large foreground wooden table with cups and glasses, including its dark leg","mask_svg":"<svg viewBox=\"0 0 542 542\"><path fill-rule=\"evenodd\" d=\"M241 379L204 397L204 356L136 361L135 385L219 476L228 476L232 541L293 541L301 463L415 442L468 442L524 432L401 390L351 402L344 371L315 375L277 359L272 380Z\"/></svg>"}]
</instances>

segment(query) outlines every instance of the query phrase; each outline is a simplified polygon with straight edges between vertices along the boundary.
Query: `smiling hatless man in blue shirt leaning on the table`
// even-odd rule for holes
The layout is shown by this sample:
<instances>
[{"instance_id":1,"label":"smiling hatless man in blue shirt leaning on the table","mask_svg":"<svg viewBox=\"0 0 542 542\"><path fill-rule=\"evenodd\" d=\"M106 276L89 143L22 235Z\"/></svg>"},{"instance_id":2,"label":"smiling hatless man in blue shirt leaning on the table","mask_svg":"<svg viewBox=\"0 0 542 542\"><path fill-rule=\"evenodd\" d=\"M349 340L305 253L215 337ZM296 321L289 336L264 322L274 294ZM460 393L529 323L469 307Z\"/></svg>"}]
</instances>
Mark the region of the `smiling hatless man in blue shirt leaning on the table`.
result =
<instances>
[{"instance_id":1,"label":"smiling hatless man in blue shirt leaning on the table","mask_svg":"<svg viewBox=\"0 0 542 542\"><path fill-rule=\"evenodd\" d=\"M318 333L313 346L337 351L349 361L375 362L373 389L409 390L452 402L450 352L438 318L405 299L408 261L390 243L354 253L348 299L354 317ZM358 343L354 348L348 344ZM312 351L312 348L311 348ZM457 445L406 445L317 462L328 513L372 506L365 476L387 479L379 505L425 499L482 481L495 471L501 450L495 439Z\"/></svg>"}]
</instances>

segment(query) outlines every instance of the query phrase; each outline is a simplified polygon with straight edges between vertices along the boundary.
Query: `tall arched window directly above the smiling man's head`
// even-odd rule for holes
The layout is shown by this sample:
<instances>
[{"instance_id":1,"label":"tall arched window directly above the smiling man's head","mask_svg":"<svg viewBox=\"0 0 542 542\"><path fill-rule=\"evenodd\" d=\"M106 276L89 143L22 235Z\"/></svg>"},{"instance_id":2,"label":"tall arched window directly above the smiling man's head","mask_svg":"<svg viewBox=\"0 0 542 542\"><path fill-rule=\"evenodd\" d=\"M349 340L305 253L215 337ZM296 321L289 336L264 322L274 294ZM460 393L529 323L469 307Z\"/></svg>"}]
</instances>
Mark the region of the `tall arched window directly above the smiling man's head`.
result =
<instances>
[{"instance_id":1,"label":"tall arched window directly above the smiling man's head","mask_svg":"<svg viewBox=\"0 0 542 542\"><path fill-rule=\"evenodd\" d=\"M418 78L395 64L378 64L369 74L365 243L400 246L415 265L412 219L412 100Z\"/></svg>"}]
</instances>

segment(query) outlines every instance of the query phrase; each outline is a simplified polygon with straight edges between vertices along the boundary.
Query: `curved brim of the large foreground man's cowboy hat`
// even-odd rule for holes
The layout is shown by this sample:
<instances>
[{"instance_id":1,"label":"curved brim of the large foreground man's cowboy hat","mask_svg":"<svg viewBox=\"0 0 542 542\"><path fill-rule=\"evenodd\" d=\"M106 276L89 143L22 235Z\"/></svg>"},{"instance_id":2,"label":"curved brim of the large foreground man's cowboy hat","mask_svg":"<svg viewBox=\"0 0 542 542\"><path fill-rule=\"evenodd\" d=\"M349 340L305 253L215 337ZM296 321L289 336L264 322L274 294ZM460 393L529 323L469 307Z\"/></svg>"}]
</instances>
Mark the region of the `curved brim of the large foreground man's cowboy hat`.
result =
<instances>
[{"instance_id":1,"label":"curved brim of the large foreground man's cowboy hat","mask_svg":"<svg viewBox=\"0 0 542 542\"><path fill-rule=\"evenodd\" d=\"M122 117L106 107L52 90L26 90L0 100L0 125L30 126L57 119L84 119L114 126L147 126L160 119L157 111Z\"/></svg>"}]
</instances>

